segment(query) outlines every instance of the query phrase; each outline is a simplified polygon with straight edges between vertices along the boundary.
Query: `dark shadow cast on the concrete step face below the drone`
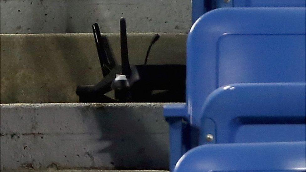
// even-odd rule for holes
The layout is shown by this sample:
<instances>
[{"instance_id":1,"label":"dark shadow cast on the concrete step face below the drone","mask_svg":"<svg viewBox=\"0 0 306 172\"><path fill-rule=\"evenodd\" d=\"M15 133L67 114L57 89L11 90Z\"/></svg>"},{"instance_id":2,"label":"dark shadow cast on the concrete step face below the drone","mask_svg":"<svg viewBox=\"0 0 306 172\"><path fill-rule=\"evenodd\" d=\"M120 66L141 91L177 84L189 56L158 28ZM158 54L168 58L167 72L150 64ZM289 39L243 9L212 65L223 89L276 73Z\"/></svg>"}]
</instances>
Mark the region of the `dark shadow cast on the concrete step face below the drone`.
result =
<instances>
[{"instance_id":1,"label":"dark shadow cast on the concrete step face below the drone","mask_svg":"<svg viewBox=\"0 0 306 172\"><path fill-rule=\"evenodd\" d=\"M162 105L98 107L100 141L110 145L99 153L111 156L114 169L168 170L168 127Z\"/></svg>"}]
</instances>

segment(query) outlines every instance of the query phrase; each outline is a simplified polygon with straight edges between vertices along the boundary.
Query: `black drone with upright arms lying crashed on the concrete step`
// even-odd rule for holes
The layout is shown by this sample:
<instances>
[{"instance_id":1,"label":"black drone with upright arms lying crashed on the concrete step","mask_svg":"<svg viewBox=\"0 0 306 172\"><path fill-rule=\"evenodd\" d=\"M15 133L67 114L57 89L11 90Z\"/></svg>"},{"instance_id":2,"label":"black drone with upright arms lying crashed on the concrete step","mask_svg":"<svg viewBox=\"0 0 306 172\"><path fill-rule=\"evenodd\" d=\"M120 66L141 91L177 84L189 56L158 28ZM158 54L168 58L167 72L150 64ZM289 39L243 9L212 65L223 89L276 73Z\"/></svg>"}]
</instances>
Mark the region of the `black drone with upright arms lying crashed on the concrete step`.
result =
<instances>
[{"instance_id":1,"label":"black drone with upright arms lying crashed on the concrete step","mask_svg":"<svg viewBox=\"0 0 306 172\"><path fill-rule=\"evenodd\" d=\"M144 65L130 65L125 19L120 19L121 65L107 53L107 41L101 37L97 23L92 25L103 79L96 85L77 87L80 102L185 102L186 65L147 65L151 46L159 39L155 34ZM114 90L115 98L105 93ZM157 92L157 93L154 93Z\"/></svg>"}]
</instances>

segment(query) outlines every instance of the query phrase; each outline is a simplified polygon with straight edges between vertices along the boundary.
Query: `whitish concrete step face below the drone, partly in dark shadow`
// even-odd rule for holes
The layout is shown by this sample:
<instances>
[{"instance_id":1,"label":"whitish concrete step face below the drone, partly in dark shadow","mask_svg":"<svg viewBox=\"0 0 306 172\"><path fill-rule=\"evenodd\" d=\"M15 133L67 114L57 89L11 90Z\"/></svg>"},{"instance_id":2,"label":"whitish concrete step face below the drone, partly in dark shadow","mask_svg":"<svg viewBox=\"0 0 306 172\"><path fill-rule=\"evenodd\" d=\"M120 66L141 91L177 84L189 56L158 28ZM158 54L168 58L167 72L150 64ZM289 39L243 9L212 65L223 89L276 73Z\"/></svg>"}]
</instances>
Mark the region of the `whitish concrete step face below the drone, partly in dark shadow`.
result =
<instances>
[{"instance_id":1,"label":"whitish concrete step face below the drone, partly in dark shadow","mask_svg":"<svg viewBox=\"0 0 306 172\"><path fill-rule=\"evenodd\" d=\"M0 104L1 170L166 170L163 105Z\"/></svg>"}]
</instances>

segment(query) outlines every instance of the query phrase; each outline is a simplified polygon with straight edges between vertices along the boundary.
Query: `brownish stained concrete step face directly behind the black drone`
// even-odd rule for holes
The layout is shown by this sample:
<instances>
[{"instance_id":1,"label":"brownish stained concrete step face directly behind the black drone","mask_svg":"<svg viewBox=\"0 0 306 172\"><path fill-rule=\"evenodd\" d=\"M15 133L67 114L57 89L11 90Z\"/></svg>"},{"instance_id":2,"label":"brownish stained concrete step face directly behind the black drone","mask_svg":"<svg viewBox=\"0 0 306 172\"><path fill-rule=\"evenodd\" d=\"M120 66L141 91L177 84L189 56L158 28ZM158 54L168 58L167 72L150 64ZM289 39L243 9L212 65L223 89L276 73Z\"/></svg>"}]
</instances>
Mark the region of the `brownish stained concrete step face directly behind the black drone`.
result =
<instances>
[{"instance_id":1,"label":"brownish stained concrete step face directly behind the black drone","mask_svg":"<svg viewBox=\"0 0 306 172\"><path fill-rule=\"evenodd\" d=\"M120 64L119 34L103 34ZM154 33L129 33L130 64L143 64ZM161 33L148 64L185 64L187 34ZM0 34L1 103L78 102L78 85L102 72L92 34Z\"/></svg>"}]
</instances>

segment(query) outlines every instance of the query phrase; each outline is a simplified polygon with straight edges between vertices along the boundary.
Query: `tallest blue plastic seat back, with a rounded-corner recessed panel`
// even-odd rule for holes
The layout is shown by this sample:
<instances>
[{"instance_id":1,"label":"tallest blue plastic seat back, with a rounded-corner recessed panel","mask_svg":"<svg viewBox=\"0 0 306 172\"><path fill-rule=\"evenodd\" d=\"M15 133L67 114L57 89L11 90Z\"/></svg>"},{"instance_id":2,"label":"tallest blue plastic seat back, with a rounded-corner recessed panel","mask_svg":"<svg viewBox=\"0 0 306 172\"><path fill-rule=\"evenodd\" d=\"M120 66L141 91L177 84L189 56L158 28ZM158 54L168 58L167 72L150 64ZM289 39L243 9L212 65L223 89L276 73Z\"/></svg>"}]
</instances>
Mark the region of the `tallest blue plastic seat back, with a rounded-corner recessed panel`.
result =
<instances>
[{"instance_id":1,"label":"tallest blue plastic seat back, with a rounded-corner recessed panel","mask_svg":"<svg viewBox=\"0 0 306 172\"><path fill-rule=\"evenodd\" d=\"M219 8L201 16L187 39L191 124L201 126L204 101L220 86L305 82L305 17L305 8Z\"/></svg>"}]
</instances>

